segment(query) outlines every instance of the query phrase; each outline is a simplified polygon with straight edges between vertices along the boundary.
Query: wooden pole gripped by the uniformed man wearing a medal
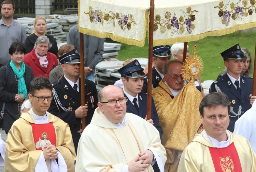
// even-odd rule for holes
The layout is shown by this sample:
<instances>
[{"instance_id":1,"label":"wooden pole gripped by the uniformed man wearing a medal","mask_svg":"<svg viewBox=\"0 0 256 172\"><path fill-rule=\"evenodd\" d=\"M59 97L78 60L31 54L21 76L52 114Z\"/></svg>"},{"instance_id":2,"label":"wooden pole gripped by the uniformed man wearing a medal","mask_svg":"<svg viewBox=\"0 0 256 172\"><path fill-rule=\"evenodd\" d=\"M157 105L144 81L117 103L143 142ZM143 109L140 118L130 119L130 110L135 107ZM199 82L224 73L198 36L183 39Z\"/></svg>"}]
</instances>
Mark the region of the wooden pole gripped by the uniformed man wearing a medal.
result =
<instances>
[{"instance_id":1,"label":"wooden pole gripped by the uniformed man wearing a medal","mask_svg":"<svg viewBox=\"0 0 256 172\"><path fill-rule=\"evenodd\" d=\"M85 106L85 89L84 89L84 34L80 32L80 69L81 69L81 103ZM82 118L82 129L85 128L85 117Z\"/></svg>"}]
</instances>

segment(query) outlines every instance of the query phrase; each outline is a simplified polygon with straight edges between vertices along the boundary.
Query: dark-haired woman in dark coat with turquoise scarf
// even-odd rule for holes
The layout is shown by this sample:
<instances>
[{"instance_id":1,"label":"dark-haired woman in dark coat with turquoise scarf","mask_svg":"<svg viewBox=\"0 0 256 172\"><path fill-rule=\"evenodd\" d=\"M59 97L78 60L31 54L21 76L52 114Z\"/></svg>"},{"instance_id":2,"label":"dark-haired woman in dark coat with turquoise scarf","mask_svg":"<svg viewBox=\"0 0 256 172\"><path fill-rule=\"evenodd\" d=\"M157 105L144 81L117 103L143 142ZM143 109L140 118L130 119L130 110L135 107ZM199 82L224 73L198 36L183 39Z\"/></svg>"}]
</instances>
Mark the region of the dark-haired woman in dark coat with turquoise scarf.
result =
<instances>
[{"instance_id":1,"label":"dark-haired woman in dark coat with turquoise scarf","mask_svg":"<svg viewBox=\"0 0 256 172\"><path fill-rule=\"evenodd\" d=\"M1 110L5 102L3 114L3 130L7 134L13 122L19 118L20 108L24 99L28 97L29 84L34 78L31 67L24 64L26 47L22 42L13 42L9 48L11 62L6 68L0 68L0 100Z\"/></svg>"}]
</instances>

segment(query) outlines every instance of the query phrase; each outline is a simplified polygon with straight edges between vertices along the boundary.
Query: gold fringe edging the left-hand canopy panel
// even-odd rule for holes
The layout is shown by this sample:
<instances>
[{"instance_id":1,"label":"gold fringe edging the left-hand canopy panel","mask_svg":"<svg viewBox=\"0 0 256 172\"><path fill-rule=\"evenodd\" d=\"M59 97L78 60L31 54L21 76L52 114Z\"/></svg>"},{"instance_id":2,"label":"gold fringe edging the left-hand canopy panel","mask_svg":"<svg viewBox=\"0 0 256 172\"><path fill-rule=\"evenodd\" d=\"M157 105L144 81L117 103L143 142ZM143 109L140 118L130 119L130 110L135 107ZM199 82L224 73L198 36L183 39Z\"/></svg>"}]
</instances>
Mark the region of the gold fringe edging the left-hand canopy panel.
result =
<instances>
[{"instance_id":1,"label":"gold fringe edging the left-hand canopy panel","mask_svg":"<svg viewBox=\"0 0 256 172\"><path fill-rule=\"evenodd\" d=\"M80 14L80 0L78 1L78 14ZM138 47L143 47L145 45L146 30L148 28L148 21L149 21L149 16L148 16L147 12L145 12L145 23L144 23L145 27L144 27L143 38L141 41L138 41L138 40L132 39L132 38L125 38L122 36L118 36L118 35L115 35L114 33L103 33L103 32L91 30L88 28L82 28L80 26L79 19L80 19L80 16L78 17L78 30L79 30L79 32L81 32L83 34L97 36L99 38L111 38L114 41L122 42L122 43L125 43L128 45L136 45Z\"/></svg>"}]
</instances>

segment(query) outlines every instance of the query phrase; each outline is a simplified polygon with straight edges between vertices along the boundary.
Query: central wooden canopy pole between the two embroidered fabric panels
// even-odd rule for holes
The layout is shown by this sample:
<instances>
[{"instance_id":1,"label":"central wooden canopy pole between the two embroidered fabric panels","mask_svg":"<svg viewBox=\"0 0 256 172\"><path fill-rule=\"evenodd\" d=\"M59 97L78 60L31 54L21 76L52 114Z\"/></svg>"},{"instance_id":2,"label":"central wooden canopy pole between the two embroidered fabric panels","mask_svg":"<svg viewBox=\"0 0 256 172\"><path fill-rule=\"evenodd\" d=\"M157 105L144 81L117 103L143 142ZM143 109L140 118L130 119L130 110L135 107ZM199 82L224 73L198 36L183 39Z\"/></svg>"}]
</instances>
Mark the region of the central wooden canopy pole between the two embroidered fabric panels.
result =
<instances>
[{"instance_id":1,"label":"central wooden canopy pole between the two embroidered fabric panels","mask_svg":"<svg viewBox=\"0 0 256 172\"><path fill-rule=\"evenodd\" d=\"M155 1L150 0L150 22L148 28L148 80L147 80L147 120L151 119L152 63L153 63L153 29Z\"/></svg>"}]
</instances>

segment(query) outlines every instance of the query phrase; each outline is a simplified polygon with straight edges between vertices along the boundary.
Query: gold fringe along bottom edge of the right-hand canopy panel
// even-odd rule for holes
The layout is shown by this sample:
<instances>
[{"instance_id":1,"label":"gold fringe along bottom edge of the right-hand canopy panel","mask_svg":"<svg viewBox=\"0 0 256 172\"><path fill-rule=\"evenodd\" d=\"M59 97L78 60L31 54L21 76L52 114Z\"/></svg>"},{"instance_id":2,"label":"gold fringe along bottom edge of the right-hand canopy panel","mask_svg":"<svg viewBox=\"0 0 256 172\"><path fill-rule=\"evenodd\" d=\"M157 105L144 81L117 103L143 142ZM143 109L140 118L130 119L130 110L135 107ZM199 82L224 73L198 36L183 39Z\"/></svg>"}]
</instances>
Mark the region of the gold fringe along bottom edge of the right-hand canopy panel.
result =
<instances>
[{"instance_id":1,"label":"gold fringe along bottom edge of the right-hand canopy panel","mask_svg":"<svg viewBox=\"0 0 256 172\"><path fill-rule=\"evenodd\" d=\"M256 27L256 22L238 24L238 25L234 25L231 28L216 30L216 31L209 31L209 32L205 32L205 33L202 33L202 34L198 34L198 35L154 40L153 41L153 46L169 45L169 44L174 44L175 42L191 42L191 41L196 41L196 40L203 39L207 36L222 36L222 35L227 35L227 34L236 32L236 31L255 28L255 27Z\"/></svg>"}]
</instances>

